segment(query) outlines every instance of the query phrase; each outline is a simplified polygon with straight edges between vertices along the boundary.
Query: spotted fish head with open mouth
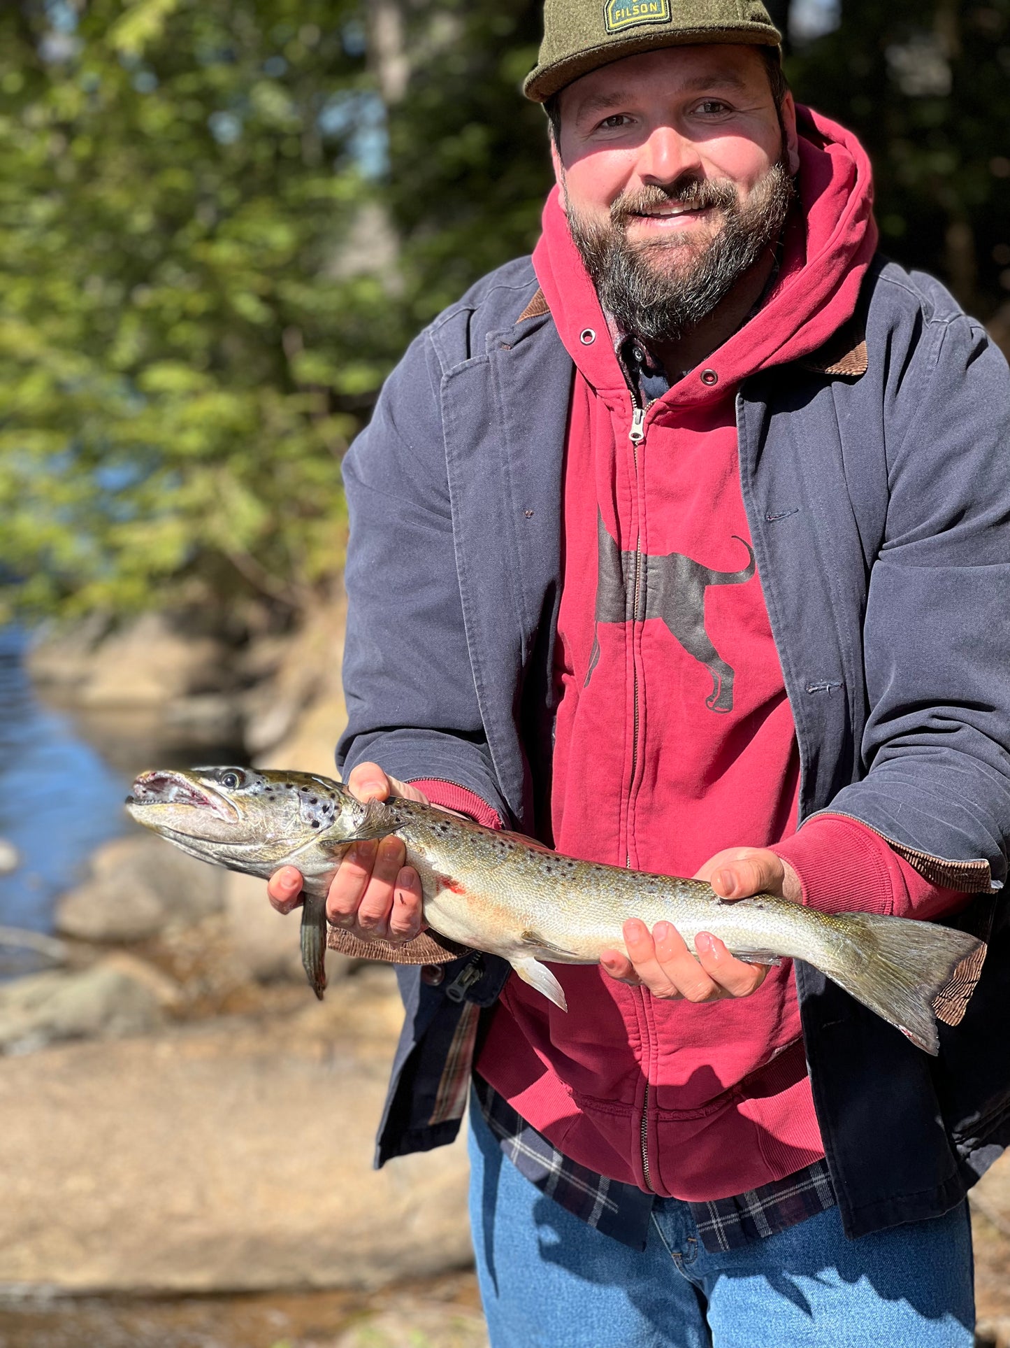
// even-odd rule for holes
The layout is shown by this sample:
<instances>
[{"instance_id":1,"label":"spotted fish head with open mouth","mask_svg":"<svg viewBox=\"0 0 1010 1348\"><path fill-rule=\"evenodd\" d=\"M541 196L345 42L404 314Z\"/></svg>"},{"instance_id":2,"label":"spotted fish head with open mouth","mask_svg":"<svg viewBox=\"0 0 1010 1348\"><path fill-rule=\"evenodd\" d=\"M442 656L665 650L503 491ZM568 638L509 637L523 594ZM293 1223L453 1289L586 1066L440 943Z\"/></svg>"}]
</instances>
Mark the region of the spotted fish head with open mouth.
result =
<instances>
[{"instance_id":1,"label":"spotted fish head with open mouth","mask_svg":"<svg viewBox=\"0 0 1010 1348\"><path fill-rule=\"evenodd\" d=\"M141 772L127 797L137 824L184 851L267 871L323 834L350 837L364 809L329 778L250 767Z\"/></svg>"}]
</instances>

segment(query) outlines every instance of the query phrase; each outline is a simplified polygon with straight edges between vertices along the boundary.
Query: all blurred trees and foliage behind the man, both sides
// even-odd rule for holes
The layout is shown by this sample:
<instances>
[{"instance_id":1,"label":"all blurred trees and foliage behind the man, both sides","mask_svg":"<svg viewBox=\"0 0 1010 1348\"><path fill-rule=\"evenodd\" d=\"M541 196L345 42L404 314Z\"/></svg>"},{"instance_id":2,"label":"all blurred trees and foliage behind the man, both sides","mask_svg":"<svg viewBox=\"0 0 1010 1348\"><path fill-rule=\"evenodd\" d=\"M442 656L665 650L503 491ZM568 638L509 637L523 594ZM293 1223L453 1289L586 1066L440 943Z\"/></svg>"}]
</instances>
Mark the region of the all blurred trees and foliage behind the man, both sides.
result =
<instances>
[{"instance_id":1,"label":"all blurred trees and foliage behind the man, both sides","mask_svg":"<svg viewBox=\"0 0 1010 1348\"><path fill-rule=\"evenodd\" d=\"M536 240L545 120L518 85L540 15L0 5L0 576L22 608L326 592L339 458L384 375ZM883 247L1010 341L1010 0L843 0L788 69L870 150Z\"/></svg>"}]
</instances>

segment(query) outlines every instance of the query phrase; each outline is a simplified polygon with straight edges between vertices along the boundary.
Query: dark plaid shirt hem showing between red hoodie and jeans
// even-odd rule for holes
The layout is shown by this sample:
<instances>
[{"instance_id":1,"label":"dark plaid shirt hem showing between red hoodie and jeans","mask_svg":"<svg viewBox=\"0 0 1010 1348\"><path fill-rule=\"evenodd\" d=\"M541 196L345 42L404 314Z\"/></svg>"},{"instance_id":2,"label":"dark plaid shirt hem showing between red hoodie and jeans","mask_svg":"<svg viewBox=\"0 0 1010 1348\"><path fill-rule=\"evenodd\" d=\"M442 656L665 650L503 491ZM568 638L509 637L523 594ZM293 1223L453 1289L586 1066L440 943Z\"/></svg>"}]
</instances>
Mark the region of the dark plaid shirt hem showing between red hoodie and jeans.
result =
<instances>
[{"instance_id":1,"label":"dark plaid shirt hem showing between red hoodie and jeans","mask_svg":"<svg viewBox=\"0 0 1010 1348\"><path fill-rule=\"evenodd\" d=\"M474 1100L502 1153L541 1193L605 1236L636 1250L645 1248L653 1202L667 1200L570 1161L477 1073ZM815 1161L785 1180L733 1198L688 1204L698 1236L711 1252L764 1240L834 1206L835 1190L826 1161Z\"/></svg>"}]
</instances>

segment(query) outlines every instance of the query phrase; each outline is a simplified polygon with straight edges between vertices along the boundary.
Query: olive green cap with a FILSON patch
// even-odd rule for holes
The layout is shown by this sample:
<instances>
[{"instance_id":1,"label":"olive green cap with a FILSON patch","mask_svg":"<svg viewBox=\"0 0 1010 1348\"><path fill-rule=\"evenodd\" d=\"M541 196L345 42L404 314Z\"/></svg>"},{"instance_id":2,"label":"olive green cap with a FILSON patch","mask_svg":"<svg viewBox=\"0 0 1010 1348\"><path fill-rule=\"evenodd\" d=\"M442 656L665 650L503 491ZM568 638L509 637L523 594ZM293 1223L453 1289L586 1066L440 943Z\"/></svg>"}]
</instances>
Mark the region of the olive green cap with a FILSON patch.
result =
<instances>
[{"instance_id":1,"label":"olive green cap with a FILSON patch","mask_svg":"<svg viewBox=\"0 0 1010 1348\"><path fill-rule=\"evenodd\" d=\"M781 40L760 0L545 0L540 59L523 92L545 102L579 75L656 47Z\"/></svg>"}]
</instances>

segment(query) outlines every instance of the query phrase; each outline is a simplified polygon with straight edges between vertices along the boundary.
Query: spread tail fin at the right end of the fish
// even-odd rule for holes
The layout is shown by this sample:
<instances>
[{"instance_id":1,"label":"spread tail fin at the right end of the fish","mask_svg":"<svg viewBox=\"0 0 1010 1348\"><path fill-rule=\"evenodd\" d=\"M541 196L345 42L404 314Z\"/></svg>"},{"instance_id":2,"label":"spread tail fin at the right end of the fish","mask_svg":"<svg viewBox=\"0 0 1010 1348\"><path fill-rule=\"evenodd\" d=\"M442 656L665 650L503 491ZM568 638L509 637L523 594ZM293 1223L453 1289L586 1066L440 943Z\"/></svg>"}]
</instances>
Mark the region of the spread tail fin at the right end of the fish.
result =
<instances>
[{"instance_id":1,"label":"spread tail fin at the right end of the fish","mask_svg":"<svg viewBox=\"0 0 1010 1348\"><path fill-rule=\"evenodd\" d=\"M871 913L847 913L846 958L824 972L920 1049L936 1054L936 1020L959 1024L986 958L967 931ZM856 958L852 960L852 953Z\"/></svg>"}]
</instances>

